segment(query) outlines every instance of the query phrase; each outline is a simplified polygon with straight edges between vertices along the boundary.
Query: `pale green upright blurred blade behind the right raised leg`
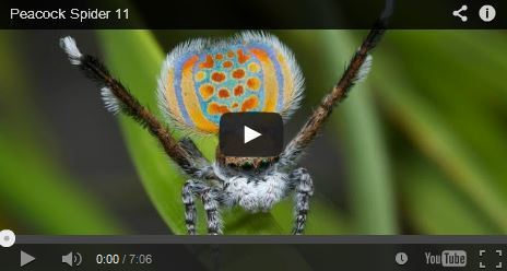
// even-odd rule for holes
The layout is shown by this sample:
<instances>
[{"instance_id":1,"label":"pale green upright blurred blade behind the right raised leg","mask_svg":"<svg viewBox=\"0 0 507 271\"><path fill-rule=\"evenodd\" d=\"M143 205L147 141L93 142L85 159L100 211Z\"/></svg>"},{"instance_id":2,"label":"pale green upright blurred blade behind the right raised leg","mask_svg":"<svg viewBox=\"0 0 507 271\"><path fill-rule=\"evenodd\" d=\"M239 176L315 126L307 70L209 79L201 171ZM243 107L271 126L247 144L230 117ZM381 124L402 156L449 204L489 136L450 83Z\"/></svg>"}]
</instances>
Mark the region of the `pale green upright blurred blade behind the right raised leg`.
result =
<instances>
[{"instance_id":1,"label":"pale green upright blurred blade behind the right raised leg","mask_svg":"<svg viewBox=\"0 0 507 271\"><path fill-rule=\"evenodd\" d=\"M297 32L302 40L313 40L311 56L321 54L326 62L321 69L308 69L316 74L321 90L310 89L308 95L320 101L340 79L345 64L359 46L350 31ZM366 32L357 32L363 38ZM380 44L381 46L381 44ZM375 54L374 54L375 59ZM372 73L378 72L376 61ZM333 111L330 132L343 134L346 148L344 161L353 213L354 231L361 234L396 234L398 232L394 209L394 191L391 184L390 161L384 143L379 113L372 103L372 90L366 82L354 86L350 97Z\"/></svg>"}]
</instances>

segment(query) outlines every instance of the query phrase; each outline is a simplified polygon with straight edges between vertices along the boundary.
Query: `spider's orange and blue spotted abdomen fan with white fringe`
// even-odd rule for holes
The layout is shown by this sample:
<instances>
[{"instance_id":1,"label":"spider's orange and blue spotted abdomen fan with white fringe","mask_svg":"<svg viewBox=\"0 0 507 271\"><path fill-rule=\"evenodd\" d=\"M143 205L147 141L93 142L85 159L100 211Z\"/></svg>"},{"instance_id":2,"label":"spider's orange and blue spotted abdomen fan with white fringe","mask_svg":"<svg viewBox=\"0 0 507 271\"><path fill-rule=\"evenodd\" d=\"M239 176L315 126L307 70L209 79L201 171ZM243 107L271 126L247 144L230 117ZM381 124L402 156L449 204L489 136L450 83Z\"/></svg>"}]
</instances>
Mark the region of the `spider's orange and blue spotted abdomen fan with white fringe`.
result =
<instances>
[{"instance_id":1,"label":"spider's orange and blue spotted abdomen fan with white fringe","mask_svg":"<svg viewBox=\"0 0 507 271\"><path fill-rule=\"evenodd\" d=\"M216 133L225 113L269 111L287 118L302 92L292 52L276 37L251 32L179 45L158 81L166 116L181 129L202 133Z\"/></svg>"}]
</instances>

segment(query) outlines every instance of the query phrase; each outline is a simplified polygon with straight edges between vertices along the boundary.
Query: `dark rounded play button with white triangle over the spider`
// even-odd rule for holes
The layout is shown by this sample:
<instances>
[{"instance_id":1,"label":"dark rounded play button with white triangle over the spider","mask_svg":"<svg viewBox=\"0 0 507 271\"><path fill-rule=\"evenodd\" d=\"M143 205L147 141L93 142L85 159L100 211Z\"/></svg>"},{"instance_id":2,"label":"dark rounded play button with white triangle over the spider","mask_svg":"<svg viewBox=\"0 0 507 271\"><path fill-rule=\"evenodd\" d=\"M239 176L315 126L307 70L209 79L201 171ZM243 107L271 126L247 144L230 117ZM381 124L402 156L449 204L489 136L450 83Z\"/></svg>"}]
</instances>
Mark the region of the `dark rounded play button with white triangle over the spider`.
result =
<instances>
[{"instance_id":1,"label":"dark rounded play button with white triangle over the spider","mask_svg":"<svg viewBox=\"0 0 507 271\"><path fill-rule=\"evenodd\" d=\"M283 149L283 120L276 113L227 113L220 119L220 152L225 156L270 157Z\"/></svg>"}]
</instances>

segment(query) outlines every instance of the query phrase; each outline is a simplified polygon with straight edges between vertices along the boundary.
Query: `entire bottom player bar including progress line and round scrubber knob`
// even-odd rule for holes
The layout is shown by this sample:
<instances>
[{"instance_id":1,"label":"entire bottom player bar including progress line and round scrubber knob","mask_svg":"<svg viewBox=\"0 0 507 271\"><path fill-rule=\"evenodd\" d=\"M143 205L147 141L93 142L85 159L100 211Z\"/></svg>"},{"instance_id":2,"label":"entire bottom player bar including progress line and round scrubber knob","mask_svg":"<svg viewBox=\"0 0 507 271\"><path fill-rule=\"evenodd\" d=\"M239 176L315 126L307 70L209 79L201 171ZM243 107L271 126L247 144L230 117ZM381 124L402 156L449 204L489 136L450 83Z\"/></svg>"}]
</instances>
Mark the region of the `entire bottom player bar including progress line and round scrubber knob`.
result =
<instances>
[{"instance_id":1,"label":"entire bottom player bar including progress line and round scrubber knob","mask_svg":"<svg viewBox=\"0 0 507 271\"><path fill-rule=\"evenodd\" d=\"M507 236L15 237L11 231L2 231L1 235L11 243L15 239L15 244L0 249L0 262L5 270L68 270L81 266L86 270L209 270L217 262L226 267L229 259L235 259L235 264L244 262L262 270L280 270L287 264L284 257L300 261L291 270L307 270L305 264L313 270L330 266L354 270L507 267ZM3 238L3 244L7 239ZM263 260L249 262L250 259Z\"/></svg>"}]
</instances>

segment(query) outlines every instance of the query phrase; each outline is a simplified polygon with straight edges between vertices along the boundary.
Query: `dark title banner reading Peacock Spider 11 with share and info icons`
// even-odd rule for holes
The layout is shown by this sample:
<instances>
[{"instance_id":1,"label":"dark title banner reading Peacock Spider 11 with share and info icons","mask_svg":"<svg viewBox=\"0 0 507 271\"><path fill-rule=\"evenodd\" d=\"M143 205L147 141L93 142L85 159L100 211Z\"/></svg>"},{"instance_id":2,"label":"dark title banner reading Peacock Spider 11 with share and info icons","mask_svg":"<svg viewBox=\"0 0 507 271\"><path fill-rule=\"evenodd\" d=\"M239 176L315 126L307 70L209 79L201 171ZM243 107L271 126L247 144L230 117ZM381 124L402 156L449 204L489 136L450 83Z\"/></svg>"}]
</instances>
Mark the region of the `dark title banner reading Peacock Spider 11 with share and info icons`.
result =
<instances>
[{"instance_id":1,"label":"dark title banner reading Peacock Spider 11 with share and info icons","mask_svg":"<svg viewBox=\"0 0 507 271\"><path fill-rule=\"evenodd\" d=\"M504 0L2 1L0 27L27 28L507 28Z\"/></svg>"}]
</instances>

